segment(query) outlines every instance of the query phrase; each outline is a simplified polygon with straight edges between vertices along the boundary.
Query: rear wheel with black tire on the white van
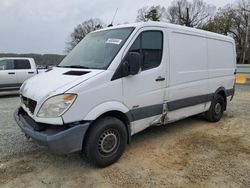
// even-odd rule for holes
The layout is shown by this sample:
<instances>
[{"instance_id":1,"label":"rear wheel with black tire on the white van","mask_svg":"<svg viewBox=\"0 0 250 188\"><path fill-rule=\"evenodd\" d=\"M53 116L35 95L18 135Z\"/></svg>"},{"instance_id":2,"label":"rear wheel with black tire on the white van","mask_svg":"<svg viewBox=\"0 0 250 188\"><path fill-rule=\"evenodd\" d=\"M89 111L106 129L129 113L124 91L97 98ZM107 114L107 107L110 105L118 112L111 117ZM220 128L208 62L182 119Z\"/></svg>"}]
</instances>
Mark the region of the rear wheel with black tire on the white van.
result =
<instances>
[{"instance_id":1,"label":"rear wheel with black tire on the white van","mask_svg":"<svg viewBox=\"0 0 250 188\"><path fill-rule=\"evenodd\" d=\"M207 112L205 112L205 118L210 122L218 122L223 116L225 109L225 100L221 95L216 95L212 101L212 104Z\"/></svg>"}]
</instances>

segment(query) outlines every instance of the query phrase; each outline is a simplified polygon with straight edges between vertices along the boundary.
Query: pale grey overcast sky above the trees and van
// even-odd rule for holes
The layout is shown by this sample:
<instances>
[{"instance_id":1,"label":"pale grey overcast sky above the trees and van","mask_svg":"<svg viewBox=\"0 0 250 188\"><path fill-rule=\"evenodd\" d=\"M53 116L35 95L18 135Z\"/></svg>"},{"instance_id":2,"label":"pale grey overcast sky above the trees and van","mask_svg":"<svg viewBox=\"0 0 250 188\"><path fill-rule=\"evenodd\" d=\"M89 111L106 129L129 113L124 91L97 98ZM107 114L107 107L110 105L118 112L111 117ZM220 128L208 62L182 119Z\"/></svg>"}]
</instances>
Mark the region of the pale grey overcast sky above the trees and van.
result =
<instances>
[{"instance_id":1,"label":"pale grey overcast sky above the trees and van","mask_svg":"<svg viewBox=\"0 0 250 188\"><path fill-rule=\"evenodd\" d=\"M222 7L234 0L204 0ZM134 22L144 6L169 6L172 0L0 0L0 53L63 54L74 27L89 18L114 24Z\"/></svg>"}]
</instances>

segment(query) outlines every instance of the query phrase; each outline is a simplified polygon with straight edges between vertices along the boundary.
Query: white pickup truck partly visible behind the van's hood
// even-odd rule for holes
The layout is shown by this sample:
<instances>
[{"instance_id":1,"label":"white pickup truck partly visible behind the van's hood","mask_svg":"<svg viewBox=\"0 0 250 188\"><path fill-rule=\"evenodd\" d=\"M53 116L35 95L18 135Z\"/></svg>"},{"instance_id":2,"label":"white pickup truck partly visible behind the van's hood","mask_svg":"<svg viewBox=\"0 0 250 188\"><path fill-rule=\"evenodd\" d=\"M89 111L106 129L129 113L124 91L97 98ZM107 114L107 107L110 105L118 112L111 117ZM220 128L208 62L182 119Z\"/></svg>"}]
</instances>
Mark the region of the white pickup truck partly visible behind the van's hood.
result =
<instances>
[{"instance_id":1,"label":"white pickup truck partly visible behind the van's hood","mask_svg":"<svg viewBox=\"0 0 250 188\"><path fill-rule=\"evenodd\" d=\"M0 58L0 91L18 90L25 80L36 74L33 58Z\"/></svg>"}]
</instances>

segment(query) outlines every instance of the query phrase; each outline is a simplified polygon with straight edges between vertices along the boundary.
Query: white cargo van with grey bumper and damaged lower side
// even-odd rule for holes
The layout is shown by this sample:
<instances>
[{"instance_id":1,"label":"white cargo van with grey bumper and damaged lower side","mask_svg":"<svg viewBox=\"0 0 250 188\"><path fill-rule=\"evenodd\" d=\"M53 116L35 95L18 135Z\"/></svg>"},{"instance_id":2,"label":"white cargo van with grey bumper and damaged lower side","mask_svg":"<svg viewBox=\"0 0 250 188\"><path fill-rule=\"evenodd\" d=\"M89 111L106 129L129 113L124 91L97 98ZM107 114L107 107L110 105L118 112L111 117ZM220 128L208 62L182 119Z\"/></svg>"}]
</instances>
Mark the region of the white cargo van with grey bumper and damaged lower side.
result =
<instances>
[{"instance_id":1,"label":"white cargo van with grey bumper and damaged lower side","mask_svg":"<svg viewBox=\"0 0 250 188\"><path fill-rule=\"evenodd\" d=\"M235 68L230 37L160 22L105 28L26 81L14 117L51 151L83 150L104 167L149 126L201 113L219 121L234 94Z\"/></svg>"}]
</instances>

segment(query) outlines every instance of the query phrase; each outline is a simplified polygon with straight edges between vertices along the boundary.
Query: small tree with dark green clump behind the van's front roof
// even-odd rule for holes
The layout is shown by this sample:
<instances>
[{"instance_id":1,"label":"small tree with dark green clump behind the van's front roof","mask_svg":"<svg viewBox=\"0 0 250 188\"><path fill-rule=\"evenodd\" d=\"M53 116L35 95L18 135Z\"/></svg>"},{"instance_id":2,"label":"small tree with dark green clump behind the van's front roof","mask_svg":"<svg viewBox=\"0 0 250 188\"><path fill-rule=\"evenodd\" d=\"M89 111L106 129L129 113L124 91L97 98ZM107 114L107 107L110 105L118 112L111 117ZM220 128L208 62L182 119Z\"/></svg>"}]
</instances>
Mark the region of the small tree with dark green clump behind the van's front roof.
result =
<instances>
[{"instance_id":1,"label":"small tree with dark green clump behind the van's front roof","mask_svg":"<svg viewBox=\"0 0 250 188\"><path fill-rule=\"evenodd\" d=\"M166 9L160 5L151 7L142 7L137 11L137 22L163 21L166 17Z\"/></svg>"}]
</instances>

